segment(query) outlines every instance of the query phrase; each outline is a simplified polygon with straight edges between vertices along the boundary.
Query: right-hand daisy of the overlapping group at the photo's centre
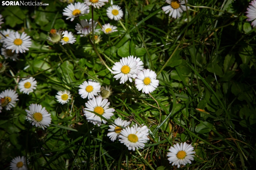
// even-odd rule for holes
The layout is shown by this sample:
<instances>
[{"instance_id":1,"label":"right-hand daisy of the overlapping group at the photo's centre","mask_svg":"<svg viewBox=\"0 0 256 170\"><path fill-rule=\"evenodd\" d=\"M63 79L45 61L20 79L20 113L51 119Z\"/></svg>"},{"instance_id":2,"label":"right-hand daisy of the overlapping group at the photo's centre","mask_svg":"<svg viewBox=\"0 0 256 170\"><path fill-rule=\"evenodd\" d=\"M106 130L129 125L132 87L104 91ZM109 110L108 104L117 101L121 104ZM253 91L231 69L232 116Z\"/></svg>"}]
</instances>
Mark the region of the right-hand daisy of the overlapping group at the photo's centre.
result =
<instances>
[{"instance_id":1,"label":"right-hand daisy of the overlapping group at the photo's centre","mask_svg":"<svg viewBox=\"0 0 256 170\"><path fill-rule=\"evenodd\" d=\"M150 69L144 69L138 72L138 76L135 79L137 89L142 89L143 93L150 93L156 90L159 80L156 80L156 73Z\"/></svg>"}]
</instances>

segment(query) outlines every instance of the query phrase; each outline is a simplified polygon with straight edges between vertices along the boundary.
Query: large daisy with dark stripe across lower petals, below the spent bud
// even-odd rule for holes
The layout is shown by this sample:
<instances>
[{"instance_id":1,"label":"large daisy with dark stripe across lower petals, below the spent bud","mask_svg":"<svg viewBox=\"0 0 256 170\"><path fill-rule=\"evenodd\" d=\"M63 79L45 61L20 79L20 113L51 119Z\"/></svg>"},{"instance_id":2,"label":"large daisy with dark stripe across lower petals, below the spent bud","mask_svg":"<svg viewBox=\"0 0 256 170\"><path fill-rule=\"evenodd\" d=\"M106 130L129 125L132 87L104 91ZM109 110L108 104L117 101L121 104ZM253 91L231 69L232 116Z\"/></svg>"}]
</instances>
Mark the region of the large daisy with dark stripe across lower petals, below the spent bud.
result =
<instances>
[{"instance_id":1,"label":"large daisy with dark stripe across lower petals, below the spent bud","mask_svg":"<svg viewBox=\"0 0 256 170\"><path fill-rule=\"evenodd\" d=\"M99 116L95 115L92 111L98 113L99 115L105 117L106 119L110 119L111 116L113 116L113 112L115 109L109 108L110 102L108 102L108 99L103 99L101 96L93 97L93 99L90 99L87 103L85 103L85 106L87 108L84 108L84 115L86 116L86 119L89 122L92 122L94 125L100 126L101 121L103 121L104 124L106 124L106 121L101 119Z\"/></svg>"}]
</instances>

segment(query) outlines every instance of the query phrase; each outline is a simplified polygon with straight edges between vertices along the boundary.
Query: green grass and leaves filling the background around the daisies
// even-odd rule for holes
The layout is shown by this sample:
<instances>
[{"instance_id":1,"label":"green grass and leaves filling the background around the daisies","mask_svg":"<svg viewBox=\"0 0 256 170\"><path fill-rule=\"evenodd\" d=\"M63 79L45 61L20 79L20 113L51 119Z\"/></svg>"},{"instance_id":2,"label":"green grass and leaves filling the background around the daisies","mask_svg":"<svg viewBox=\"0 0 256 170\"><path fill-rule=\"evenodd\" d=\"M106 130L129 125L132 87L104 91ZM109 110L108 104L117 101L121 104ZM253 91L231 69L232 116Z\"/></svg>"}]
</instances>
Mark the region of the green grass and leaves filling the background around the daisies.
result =
<instances>
[{"instance_id":1,"label":"green grass and leaves filling the background around the daisies","mask_svg":"<svg viewBox=\"0 0 256 170\"><path fill-rule=\"evenodd\" d=\"M67 3L43 2L49 6L0 6L1 29L25 31L32 38L29 51L19 54L19 61L8 60L10 67L0 76L0 92L15 89L19 95L15 108L0 113L0 169L9 169L9 162L19 155L28 157L33 170L142 170L150 169L148 164L157 170L176 169L166 153L185 141L194 146L196 156L180 169L255 167L256 31L246 21L248 0L189 0L188 6L194 7L178 19L162 11L168 5L163 0L127 1L133 19L124 1L114 1L122 7L127 31L106 16L109 3L94 9L97 28L105 23L118 26L110 36L99 32L99 55L110 68L121 57L140 57L144 68L155 71L160 80L152 97L138 91L134 82L120 85L113 78L88 38L76 34L79 20L71 22L62 15ZM91 11L79 18L89 20ZM52 28L72 31L77 37L74 44L64 45L75 63L58 44L46 41ZM32 75L37 89L23 94L11 74ZM106 136L109 124L98 127L85 119L82 108L87 99L78 94L78 86L91 79L88 74L102 86L111 85L110 99L122 104L114 107L110 121L133 115L150 127L151 140L140 153L112 142ZM62 105L55 95L64 89L71 91L72 100ZM25 109L32 103L51 113L52 124L44 131L26 120Z\"/></svg>"}]
</instances>

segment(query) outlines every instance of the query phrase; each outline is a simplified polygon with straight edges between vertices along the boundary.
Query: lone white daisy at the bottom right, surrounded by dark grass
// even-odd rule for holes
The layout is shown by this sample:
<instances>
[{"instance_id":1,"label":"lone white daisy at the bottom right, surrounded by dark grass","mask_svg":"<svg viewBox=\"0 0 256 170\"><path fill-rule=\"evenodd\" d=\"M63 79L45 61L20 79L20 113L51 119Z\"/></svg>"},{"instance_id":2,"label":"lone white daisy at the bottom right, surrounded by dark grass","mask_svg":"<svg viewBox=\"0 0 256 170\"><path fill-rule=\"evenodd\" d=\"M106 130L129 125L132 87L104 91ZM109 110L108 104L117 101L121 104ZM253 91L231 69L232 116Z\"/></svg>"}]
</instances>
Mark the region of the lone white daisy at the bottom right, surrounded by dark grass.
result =
<instances>
[{"instance_id":1,"label":"lone white daisy at the bottom right, surrounded by dark grass","mask_svg":"<svg viewBox=\"0 0 256 170\"><path fill-rule=\"evenodd\" d=\"M194 160L192 154L195 152L193 151L194 147L188 145L186 142L174 145L174 147L171 146L169 149L170 152L167 153L168 160L170 161L170 164L172 163L173 165L178 165L178 168L180 165L186 165L186 164L191 164L190 160Z\"/></svg>"}]
</instances>

